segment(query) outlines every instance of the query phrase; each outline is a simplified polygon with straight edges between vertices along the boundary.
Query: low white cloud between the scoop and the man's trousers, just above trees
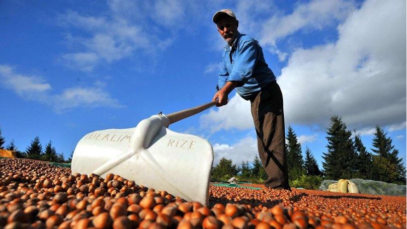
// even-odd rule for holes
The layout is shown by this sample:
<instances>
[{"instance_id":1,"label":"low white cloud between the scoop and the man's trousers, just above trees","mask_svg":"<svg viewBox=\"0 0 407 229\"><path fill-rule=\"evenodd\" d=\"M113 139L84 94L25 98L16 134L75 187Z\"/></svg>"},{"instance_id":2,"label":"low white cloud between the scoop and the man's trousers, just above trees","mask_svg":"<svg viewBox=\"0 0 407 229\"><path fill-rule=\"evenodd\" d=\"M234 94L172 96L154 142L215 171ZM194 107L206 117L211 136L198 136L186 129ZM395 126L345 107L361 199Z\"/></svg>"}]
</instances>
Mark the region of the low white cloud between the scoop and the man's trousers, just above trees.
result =
<instances>
[{"instance_id":1,"label":"low white cloud between the scoop and the man's trousers, just above trees","mask_svg":"<svg viewBox=\"0 0 407 229\"><path fill-rule=\"evenodd\" d=\"M231 159L233 164L240 165L242 161L253 162L258 155L257 139L251 136L238 140L233 145L215 143L213 145L214 161L213 166L219 163L221 158Z\"/></svg>"}]
</instances>

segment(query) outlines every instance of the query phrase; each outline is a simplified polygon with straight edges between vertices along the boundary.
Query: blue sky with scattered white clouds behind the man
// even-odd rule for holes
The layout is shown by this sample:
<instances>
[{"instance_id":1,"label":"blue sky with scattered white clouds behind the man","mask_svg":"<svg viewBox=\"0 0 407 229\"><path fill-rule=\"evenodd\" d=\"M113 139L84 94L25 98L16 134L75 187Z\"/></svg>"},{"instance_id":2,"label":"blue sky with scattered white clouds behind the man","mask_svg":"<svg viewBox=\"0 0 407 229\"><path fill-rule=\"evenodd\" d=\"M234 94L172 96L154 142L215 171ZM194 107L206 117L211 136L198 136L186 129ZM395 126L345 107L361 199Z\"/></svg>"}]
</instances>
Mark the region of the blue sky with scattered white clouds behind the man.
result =
<instances>
[{"instance_id":1,"label":"blue sky with scattered white clouds behind the man","mask_svg":"<svg viewBox=\"0 0 407 229\"><path fill-rule=\"evenodd\" d=\"M130 128L160 111L209 102L224 40L211 19L231 8L277 75L286 126L321 165L339 115L370 150L376 125L406 158L405 1L2 1L0 128L20 150L39 136L68 158L85 134ZM221 157L253 161L249 102L170 126Z\"/></svg>"}]
</instances>

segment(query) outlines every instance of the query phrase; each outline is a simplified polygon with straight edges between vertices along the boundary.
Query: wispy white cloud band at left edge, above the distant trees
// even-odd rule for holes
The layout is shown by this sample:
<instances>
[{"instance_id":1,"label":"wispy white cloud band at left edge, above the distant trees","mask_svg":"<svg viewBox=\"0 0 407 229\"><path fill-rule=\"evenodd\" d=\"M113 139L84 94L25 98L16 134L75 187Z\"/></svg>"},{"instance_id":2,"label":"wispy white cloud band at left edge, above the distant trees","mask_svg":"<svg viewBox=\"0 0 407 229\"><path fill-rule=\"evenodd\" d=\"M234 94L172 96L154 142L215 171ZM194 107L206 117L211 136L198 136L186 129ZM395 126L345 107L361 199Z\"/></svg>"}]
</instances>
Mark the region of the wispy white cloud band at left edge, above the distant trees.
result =
<instances>
[{"instance_id":1,"label":"wispy white cloud band at left edge, above the distant trees","mask_svg":"<svg viewBox=\"0 0 407 229\"><path fill-rule=\"evenodd\" d=\"M104 83L94 87L66 88L61 94L52 94L50 84L35 75L24 75L9 65L0 65L0 84L24 99L38 101L64 112L75 107L123 107L104 90Z\"/></svg>"}]
</instances>

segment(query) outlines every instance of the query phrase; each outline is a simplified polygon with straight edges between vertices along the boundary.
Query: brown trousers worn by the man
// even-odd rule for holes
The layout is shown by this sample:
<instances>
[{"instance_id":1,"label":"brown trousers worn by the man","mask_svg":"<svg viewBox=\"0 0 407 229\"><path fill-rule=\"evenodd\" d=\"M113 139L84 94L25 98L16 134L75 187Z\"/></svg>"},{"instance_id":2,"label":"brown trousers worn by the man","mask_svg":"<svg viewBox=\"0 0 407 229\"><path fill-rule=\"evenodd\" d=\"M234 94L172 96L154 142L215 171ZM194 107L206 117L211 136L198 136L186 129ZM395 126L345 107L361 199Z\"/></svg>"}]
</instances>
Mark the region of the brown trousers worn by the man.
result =
<instances>
[{"instance_id":1,"label":"brown trousers worn by the man","mask_svg":"<svg viewBox=\"0 0 407 229\"><path fill-rule=\"evenodd\" d=\"M250 101L259 157L269 176L264 185L290 190L285 152L283 95L280 87L277 83L271 83Z\"/></svg>"}]
</instances>

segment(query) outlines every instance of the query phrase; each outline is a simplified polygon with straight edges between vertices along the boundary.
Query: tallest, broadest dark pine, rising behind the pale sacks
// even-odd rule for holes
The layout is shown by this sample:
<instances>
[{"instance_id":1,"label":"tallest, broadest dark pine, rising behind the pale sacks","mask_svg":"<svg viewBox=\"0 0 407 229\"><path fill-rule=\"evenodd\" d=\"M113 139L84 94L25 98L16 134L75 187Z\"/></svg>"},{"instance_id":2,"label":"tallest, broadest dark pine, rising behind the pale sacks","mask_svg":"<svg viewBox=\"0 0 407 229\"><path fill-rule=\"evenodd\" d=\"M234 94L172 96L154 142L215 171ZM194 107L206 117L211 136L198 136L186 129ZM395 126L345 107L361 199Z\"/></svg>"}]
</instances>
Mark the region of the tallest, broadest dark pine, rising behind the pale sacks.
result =
<instances>
[{"instance_id":1,"label":"tallest, broadest dark pine, rising behind the pale sacks","mask_svg":"<svg viewBox=\"0 0 407 229\"><path fill-rule=\"evenodd\" d=\"M346 129L342 118L331 116L331 127L327 131L328 152L322 158L323 172L327 179L351 179L356 173L357 154L351 131Z\"/></svg>"}]
</instances>

